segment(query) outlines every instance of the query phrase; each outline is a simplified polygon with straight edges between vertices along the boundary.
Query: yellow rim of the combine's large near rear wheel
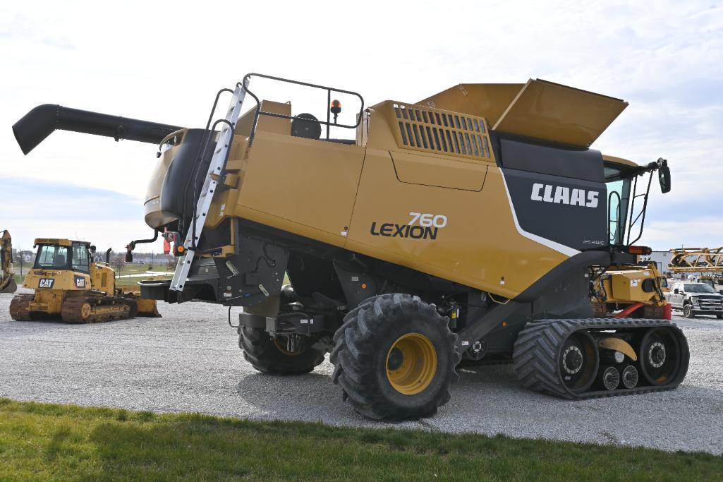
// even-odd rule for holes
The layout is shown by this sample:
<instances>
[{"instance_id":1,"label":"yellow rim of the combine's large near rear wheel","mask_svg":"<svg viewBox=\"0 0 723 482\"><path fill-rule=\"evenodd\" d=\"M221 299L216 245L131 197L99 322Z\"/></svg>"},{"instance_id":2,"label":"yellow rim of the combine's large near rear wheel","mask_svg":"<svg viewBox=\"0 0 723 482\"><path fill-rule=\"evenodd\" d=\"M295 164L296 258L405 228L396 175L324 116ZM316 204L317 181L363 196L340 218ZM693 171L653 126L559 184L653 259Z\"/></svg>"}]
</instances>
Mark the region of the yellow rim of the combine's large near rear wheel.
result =
<instances>
[{"instance_id":1,"label":"yellow rim of the combine's large near rear wheel","mask_svg":"<svg viewBox=\"0 0 723 482\"><path fill-rule=\"evenodd\" d=\"M429 338L419 333L399 337L387 353L387 379L397 392L424 392L437 373L437 351Z\"/></svg>"}]
</instances>

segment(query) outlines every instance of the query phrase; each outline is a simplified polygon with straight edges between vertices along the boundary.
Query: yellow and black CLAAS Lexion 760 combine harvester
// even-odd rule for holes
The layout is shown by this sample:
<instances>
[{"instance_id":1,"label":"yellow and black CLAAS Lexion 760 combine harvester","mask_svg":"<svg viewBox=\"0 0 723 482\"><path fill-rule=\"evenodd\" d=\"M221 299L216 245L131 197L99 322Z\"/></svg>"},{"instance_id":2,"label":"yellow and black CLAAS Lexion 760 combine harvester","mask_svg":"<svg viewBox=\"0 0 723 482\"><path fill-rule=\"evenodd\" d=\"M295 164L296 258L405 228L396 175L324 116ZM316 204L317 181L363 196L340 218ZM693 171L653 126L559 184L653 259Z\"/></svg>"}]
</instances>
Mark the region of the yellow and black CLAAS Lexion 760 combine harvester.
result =
<instances>
[{"instance_id":1,"label":"yellow and black CLAAS Lexion 760 combine harvester","mask_svg":"<svg viewBox=\"0 0 723 482\"><path fill-rule=\"evenodd\" d=\"M319 89L324 115L260 100L257 77ZM231 103L214 122L221 95ZM351 122L336 98L358 103ZM569 399L683 380L675 325L593 318L591 278L649 252L630 232L653 173L670 185L663 159L589 148L625 106L530 80L365 108L348 90L249 74L219 91L205 129L46 105L14 132L25 153L55 129L158 143L145 221L180 258L143 294L243 307L255 368L306 373L330 352L355 410L401 419L447 402L463 361L514 363L523 386Z\"/></svg>"}]
</instances>

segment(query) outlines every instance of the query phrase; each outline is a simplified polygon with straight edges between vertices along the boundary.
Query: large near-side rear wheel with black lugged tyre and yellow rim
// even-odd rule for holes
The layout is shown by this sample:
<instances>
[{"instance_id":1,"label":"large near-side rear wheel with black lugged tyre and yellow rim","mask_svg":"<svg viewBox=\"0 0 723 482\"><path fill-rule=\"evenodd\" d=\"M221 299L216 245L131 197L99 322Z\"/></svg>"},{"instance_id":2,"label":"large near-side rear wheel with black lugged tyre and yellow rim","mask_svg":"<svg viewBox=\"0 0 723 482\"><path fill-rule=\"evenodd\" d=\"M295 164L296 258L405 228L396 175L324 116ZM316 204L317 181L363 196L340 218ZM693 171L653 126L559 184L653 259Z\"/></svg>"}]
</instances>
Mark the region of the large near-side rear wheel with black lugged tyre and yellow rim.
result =
<instances>
[{"instance_id":1,"label":"large near-side rear wheel with black lugged tyre and yellow rim","mask_svg":"<svg viewBox=\"0 0 723 482\"><path fill-rule=\"evenodd\" d=\"M455 340L447 319L419 297L371 297L334 335L333 380L367 418L428 417L450 399L461 360Z\"/></svg>"}]
</instances>

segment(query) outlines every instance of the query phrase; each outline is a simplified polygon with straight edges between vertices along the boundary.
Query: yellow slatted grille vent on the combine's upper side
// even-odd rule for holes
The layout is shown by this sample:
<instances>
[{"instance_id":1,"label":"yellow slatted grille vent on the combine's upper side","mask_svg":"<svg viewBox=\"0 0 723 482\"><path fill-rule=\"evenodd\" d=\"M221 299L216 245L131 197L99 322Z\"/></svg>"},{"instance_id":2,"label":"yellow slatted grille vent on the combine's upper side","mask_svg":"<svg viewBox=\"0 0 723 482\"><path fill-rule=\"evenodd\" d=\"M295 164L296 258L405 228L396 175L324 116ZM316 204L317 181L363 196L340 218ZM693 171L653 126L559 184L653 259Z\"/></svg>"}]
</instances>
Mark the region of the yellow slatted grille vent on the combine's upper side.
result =
<instances>
[{"instance_id":1,"label":"yellow slatted grille vent on the combine's upper side","mask_svg":"<svg viewBox=\"0 0 723 482\"><path fill-rule=\"evenodd\" d=\"M484 118L401 103L391 103L391 107L398 123L399 147L448 156L492 158Z\"/></svg>"}]
</instances>

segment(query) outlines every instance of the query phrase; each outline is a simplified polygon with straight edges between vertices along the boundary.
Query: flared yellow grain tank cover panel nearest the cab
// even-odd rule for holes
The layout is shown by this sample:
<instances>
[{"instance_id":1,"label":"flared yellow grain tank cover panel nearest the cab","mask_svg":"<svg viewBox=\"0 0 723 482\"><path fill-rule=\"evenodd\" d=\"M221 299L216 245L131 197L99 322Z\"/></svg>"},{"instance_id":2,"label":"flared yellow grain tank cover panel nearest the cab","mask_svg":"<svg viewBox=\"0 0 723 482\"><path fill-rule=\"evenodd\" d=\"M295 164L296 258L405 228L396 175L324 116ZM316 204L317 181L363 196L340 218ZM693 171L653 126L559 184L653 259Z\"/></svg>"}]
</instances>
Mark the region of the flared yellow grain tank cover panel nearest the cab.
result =
<instances>
[{"instance_id":1,"label":"flared yellow grain tank cover panel nearest the cab","mask_svg":"<svg viewBox=\"0 0 723 482\"><path fill-rule=\"evenodd\" d=\"M529 80L493 129L586 148L627 106L618 98Z\"/></svg>"}]
</instances>

